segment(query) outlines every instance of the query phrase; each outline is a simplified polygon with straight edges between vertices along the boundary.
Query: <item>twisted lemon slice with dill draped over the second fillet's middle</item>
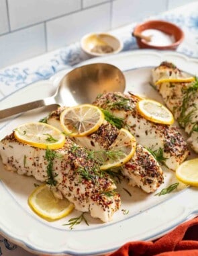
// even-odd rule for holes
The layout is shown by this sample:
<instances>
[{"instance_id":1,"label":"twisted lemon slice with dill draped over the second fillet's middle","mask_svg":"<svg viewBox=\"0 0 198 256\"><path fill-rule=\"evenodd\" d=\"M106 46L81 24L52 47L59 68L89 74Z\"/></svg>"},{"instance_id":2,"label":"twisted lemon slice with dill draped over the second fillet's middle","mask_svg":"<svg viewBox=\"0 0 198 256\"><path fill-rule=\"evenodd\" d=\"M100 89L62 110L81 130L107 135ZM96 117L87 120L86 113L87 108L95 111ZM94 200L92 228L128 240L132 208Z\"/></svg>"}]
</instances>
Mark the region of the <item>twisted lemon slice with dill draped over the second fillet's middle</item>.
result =
<instances>
[{"instance_id":1,"label":"twisted lemon slice with dill draped over the second fillet's middle","mask_svg":"<svg viewBox=\"0 0 198 256\"><path fill-rule=\"evenodd\" d=\"M136 139L128 130L121 128L117 138L109 147L109 154L101 166L101 170L119 167L132 158L136 151Z\"/></svg>"}]
</instances>

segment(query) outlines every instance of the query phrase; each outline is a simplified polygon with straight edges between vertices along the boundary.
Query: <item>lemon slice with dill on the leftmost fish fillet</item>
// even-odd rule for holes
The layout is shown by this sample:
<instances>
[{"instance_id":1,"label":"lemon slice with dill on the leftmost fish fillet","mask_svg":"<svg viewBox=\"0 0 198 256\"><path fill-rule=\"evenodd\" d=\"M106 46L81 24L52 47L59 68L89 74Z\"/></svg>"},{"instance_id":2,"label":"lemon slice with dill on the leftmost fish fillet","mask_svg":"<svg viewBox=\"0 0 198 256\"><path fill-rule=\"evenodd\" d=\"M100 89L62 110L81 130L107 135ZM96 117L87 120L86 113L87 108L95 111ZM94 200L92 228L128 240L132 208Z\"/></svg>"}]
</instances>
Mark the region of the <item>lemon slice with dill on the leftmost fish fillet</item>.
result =
<instances>
[{"instance_id":1,"label":"lemon slice with dill on the leftmost fish fillet","mask_svg":"<svg viewBox=\"0 0 198 256\"><path fill-rule=\"evenodd\" d=\"M15 129L14 136L22 143L50 150L62 148L65 142L65 136L60 130L39 122L20 125Z\"/></svg>"}]
</instances>

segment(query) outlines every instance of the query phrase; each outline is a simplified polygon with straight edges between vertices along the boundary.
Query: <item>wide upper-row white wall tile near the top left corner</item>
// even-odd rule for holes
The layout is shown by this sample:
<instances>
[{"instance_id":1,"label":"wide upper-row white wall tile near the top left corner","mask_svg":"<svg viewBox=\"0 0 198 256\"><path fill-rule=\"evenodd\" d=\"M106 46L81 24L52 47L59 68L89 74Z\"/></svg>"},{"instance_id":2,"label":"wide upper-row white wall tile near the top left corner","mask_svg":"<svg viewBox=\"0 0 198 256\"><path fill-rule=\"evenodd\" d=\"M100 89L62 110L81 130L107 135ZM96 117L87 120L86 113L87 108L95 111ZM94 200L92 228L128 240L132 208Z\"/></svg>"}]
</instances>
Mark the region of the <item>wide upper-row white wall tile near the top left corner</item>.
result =
<instances>
[{"instance_id":1,"label":"wide upper-row white wall tile near the top left corner","mask_svg":"<svg viewBox=\"0 0 198 256\"><path fill-rule=\"evenodd\" d=\"M8 0L11 30L56 18L81 8L81 0Z\"/></svg>"}]
</instances>

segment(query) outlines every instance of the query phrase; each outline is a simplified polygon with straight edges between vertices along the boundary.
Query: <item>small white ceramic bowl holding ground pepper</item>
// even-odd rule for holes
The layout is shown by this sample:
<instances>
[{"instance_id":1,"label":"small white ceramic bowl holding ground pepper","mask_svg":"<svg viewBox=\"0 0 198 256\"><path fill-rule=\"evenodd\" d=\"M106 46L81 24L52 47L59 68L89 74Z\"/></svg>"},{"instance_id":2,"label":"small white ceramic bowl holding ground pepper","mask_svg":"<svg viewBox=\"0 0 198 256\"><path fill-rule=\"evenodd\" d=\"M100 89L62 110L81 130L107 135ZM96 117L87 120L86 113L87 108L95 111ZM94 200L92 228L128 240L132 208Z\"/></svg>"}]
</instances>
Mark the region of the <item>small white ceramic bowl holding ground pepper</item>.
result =
<instances>
[{"instance_id":1,"label":"small white ceramic bowl holding ground pepper","mask_svg":"<svg viewBox=\"0 0 198 256\"><path fill-rule=\"evenodd\" d=\"M91 33L81 39L81 48L85 53L98 57L119 53L123 49L123 43L108 33Z\"/></svg>"}]
</instances>

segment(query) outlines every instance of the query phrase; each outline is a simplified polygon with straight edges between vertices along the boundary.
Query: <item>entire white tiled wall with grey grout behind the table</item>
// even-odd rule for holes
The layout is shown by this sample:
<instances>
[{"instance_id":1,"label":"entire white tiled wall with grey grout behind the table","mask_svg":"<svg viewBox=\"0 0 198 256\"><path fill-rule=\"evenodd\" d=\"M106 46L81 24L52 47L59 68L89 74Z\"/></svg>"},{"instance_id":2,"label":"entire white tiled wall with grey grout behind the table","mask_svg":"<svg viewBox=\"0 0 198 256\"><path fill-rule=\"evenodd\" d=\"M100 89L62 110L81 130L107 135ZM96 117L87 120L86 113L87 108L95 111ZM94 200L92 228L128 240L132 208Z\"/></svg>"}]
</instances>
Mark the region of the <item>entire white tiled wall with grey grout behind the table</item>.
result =
<instances>
[{"instance_id":1,"label":"entire white tiled wall with grey grout behind the table","mask_svg":"<svg viewBox=\"0 0 198 256\"><path fill-rule=\"evenodd\" d=\"M0 68L195 0L0 0Z\"/></svg>"}]
</instances>

